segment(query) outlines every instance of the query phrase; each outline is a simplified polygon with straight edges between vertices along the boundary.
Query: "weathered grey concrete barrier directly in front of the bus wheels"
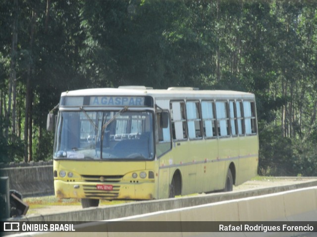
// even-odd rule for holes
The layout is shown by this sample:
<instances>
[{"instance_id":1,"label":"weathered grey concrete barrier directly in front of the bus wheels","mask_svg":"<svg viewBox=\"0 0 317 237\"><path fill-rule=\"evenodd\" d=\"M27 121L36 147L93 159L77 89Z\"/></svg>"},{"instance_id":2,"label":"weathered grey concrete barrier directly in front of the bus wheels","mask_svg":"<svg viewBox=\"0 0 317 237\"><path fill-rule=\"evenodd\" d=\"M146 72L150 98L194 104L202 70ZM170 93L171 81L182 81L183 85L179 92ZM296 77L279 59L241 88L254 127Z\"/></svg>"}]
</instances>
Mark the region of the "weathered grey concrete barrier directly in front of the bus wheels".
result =
<instances>
[{"instance_id":1,"label":"weathered grey concrete barrier directly in front of the bus wheels","mask_svg":"<svg viewBox=\"0 0 317 237\"><path fill-rule=\"evenodd\" d=\"M102 221L114 218L122 218L177 208L198 206L226 200L234 200L245 197L255 197L274 194L284 191L317 186L317 181L308 181L294 185L270 187L248 191L233 191L230 193L213 193L208 195L178 197L151 201L137 201L120 205L108 205L90 207L72 212L60 212L48 215L34 215L19 218L20 221ZM219 213L217 213L219 215Z\"/></svg>"}]
</instances>

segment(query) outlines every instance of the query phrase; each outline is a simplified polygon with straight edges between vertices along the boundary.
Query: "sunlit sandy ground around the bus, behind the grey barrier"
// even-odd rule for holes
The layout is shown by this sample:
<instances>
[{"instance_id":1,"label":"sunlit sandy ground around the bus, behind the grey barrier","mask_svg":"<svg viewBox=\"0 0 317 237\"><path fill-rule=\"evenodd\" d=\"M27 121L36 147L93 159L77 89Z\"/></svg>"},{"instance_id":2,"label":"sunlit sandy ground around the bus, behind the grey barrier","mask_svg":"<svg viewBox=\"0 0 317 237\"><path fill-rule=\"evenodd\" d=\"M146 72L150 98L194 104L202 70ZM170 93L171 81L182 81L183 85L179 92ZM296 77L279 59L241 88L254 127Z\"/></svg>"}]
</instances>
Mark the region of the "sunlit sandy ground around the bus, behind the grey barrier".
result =
<instances>
[{"instance_id":1,"label":"sunlit sandy ground around the bus, behind the grey barrier","mask_svg":"<svg viewBox=\"0 0 317 237\"><path fill-rule=\"evenodd\" d=\"M254 179L251 181L248 181L242 185L239 185L237 187L233 187L233 191L241 191L241 190L252 190L252 189L260 189L260 188L267 188L267 187L276 187L276 186L284 186L284 185L292 185L292 184L299 184L303 182L309 182L309 181L317 181L317 177L314 178L306 178L306 177L285 177L285 178L275 178L275 177L266 177L266 178L259 178ZM43 198L43 197L39 197ZM45 203L44 203L45 204ZM32 207L30 205L30 209L26 216L32 216L32 215L47 215L47 214L53 214L53 213L59 213L59 212L69 212L69 211L75 211L75 210L81 210L82 206L80 204L80 201L78 200L78 203L72 203L71 205L51 205L50 203L47 203L48 205L39 205ZM100 206L107 205L107 203L101 202Z\"/></svg>"}]
</instances>

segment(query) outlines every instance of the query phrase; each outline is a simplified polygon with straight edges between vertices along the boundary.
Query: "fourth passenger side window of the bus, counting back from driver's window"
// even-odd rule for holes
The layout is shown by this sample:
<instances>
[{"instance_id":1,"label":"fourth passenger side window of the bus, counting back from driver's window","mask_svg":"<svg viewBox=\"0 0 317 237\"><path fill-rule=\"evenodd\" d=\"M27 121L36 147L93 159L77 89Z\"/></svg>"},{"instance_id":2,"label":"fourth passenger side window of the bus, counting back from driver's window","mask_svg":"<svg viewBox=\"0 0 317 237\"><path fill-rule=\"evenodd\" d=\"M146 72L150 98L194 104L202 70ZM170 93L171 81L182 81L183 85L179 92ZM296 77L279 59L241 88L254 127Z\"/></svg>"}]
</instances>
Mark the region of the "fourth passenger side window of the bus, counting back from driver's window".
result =
<instances>
[{"instance_id":1,"label":"fourth passenger side window of the bus, counting back from driver's window","mask_svg":"<svg viewBox=\"0 0 317 237\"><path fill-rule=\"evenodd\" d=\"M229 125L228 103L226 101L217 101L216 113L217 113L218 135L220 137L229 136L230 125Z\"/></svg>"}]
</instances>

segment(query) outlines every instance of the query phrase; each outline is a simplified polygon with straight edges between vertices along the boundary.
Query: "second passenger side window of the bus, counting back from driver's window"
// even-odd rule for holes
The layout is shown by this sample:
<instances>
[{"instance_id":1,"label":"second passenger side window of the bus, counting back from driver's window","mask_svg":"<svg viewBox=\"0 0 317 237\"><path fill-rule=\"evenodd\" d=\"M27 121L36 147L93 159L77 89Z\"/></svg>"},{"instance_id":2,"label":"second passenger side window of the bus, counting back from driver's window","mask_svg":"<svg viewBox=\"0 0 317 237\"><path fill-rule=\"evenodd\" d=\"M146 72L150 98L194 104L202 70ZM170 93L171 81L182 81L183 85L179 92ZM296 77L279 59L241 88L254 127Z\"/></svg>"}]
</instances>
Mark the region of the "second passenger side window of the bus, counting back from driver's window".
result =
<instances>
[{"instance_id":1,"label":"second passenger side window of the bus, counting back from driver's window","mask_svg":"<svg viewBox=\"0 0 317 237\"><path fill-rule=\"evenodd\" d=\"M189 139L202 138L202 126L199 101L186 102L186 114Z\"/></svg>"}]
</instances>

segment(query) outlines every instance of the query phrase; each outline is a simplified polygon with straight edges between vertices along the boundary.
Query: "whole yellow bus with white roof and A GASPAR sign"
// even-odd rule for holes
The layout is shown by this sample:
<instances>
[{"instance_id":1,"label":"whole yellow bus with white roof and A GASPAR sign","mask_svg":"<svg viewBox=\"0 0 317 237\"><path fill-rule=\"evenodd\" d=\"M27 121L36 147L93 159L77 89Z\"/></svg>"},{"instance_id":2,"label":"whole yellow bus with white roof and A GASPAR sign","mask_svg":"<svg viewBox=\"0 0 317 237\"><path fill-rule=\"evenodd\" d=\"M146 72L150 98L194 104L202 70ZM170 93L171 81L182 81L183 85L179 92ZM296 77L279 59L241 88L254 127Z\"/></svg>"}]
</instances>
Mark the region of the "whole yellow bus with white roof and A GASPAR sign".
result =
<instances>
[{"instance_id":1,"label":"whole yellow bus with white roof and A GASPAR sign","mask_svg":"<svg viewBox=\"0 0 317 237\"><path fill-rule=\"evenodd\" d=\"M252 93L120 86L60 97L55 196L80 198L84 208L232 191L257 175L258 160Z\"/></svg>"}]
</instances>

